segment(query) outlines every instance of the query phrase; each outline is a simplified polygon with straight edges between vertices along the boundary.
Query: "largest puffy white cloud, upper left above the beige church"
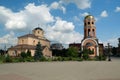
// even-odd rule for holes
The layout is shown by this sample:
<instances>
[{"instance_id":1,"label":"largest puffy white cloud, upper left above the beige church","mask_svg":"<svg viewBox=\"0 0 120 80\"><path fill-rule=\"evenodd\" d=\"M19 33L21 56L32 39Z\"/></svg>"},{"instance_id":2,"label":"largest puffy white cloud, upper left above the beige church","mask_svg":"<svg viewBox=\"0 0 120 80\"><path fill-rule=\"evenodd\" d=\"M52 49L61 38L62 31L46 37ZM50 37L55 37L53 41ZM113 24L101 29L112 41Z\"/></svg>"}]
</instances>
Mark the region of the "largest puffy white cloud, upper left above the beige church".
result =
<instances>
[{"instance_id":1,"label":"largest puffy white cloud, upper left above the beige church","mask_svg":"<svg viewBox=\"0 0 120 80\"><path fill-rule=\"evenodd\" d=\"M0 6L0 21L7 29L33 28L37 24L47 24L53 22L53 16L47 5L35 6L29 3L24 10L12 12L10 9ZM32 23L32 24L31 24Z\"/></svg>"}]
</instances>

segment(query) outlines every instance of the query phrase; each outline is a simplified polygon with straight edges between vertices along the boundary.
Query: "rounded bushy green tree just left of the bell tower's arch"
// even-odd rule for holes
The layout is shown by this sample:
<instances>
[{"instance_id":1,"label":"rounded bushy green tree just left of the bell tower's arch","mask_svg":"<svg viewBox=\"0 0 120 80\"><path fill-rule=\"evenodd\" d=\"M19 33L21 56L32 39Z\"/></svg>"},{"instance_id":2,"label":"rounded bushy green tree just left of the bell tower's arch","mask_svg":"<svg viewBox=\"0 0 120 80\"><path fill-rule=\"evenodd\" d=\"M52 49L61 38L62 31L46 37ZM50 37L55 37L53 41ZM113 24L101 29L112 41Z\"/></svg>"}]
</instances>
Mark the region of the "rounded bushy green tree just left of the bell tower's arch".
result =
<instances>
[{"instance_id":1,"label":"rounded bushy green tree just left of the bell tower's arch","mask_svg":"<svg viewBox=\"0 0 120 80\"><path fill-rule=\"evenodd\" d=\"M76 47L68 48L67 57L78 57L78 49Z\"/></svg>"}]
</instances>

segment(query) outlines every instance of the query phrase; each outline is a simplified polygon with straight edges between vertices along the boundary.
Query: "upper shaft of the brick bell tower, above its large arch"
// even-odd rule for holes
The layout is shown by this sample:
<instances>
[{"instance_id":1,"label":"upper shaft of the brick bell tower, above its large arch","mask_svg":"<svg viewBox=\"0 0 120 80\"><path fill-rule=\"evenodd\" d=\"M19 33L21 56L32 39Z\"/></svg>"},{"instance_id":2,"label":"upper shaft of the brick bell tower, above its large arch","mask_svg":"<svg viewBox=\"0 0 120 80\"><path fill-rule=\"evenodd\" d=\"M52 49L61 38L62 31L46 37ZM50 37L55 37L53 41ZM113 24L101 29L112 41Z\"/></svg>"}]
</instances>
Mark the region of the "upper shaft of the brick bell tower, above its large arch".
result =
<instances>
[{"instance_id":1,"label":"upper shaft of the brick bell tower, above its large arch","mask_svg":"<svg viewBox=\"0 0 120 80\"><path fill-rule=\"evenodd\" d=\"M92 15L87 15L84 19L84 39L96 38L95 19Z\"/></svg>"}]
</instances>

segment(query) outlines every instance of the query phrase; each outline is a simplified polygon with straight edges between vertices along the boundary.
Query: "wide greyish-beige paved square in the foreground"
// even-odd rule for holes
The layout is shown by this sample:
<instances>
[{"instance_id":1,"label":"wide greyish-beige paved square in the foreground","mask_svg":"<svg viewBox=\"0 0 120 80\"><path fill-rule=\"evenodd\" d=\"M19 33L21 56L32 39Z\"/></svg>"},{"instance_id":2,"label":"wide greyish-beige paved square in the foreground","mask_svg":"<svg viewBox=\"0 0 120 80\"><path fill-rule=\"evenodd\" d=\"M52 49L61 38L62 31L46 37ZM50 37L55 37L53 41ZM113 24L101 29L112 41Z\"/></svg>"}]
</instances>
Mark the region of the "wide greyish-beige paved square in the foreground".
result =
<instances>
[{"instance_id":1,"label":"wide greyish-beige paved square in the foreground","mask_svg":"<svg viewBox=\"0 0 120 80\"><path fill-rule=\"evenodd\" d=\"M0 80L120 80L120 59L0 64Z\"/></svg>"}]
</instances>

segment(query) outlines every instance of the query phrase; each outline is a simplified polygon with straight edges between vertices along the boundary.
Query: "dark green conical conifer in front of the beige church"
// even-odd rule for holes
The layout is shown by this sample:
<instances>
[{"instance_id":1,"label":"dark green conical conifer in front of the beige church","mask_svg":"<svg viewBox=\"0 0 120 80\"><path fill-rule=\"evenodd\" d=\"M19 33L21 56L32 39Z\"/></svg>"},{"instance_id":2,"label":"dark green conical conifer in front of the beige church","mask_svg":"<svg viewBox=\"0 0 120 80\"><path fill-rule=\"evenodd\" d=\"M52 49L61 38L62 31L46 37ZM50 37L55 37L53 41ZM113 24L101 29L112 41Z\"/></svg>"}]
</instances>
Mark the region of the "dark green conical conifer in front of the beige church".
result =
<instances>
[{"instance_id":1,"label":"dark green conical conifer in front of the beige church","mask_svg":"<svg viewBox=\"0 0 120 80\"><path fill-rule=\"evenodd\" d=\"M38 42L38 44L36 45L36 49L35 49L35 55L34 55L34 59L35 60L40 60L40 58L42 57L42 47L40 42Z\"/></svg>"}]
</instances>

